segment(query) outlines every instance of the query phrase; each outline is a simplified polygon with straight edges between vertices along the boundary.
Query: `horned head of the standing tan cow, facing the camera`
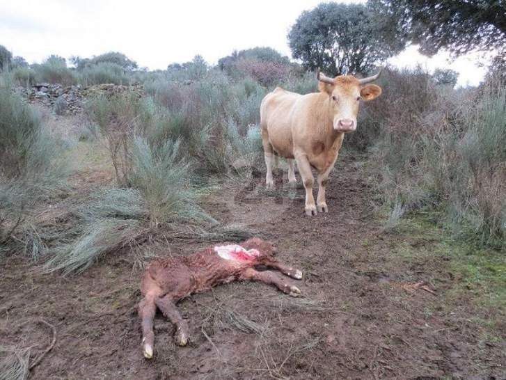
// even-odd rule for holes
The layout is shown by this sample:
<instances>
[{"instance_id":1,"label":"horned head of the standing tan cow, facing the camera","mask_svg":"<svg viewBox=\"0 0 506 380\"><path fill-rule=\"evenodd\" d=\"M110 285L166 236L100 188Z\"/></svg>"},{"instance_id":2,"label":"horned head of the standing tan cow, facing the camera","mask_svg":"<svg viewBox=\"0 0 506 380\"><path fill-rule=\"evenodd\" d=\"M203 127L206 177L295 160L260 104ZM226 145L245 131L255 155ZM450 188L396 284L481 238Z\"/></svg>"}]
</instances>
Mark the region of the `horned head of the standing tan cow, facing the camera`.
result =
<instances>
[{"instance_id":1,"label":"horned head of the standing tan cow, facing the camera","mask_svg":"<svg viewBox=\"0 0 506 380\"><path fill-rule=\"evenodd\" d=\"M373 100L381 95L381 87L368 84L379 78L379 74L363 79L351 75L325 77L317 71L319 90L329 95L330 113L334 129L338 132L353 132L356 129L358 104L361 100Z\"/></svg>"}]
</instances>

